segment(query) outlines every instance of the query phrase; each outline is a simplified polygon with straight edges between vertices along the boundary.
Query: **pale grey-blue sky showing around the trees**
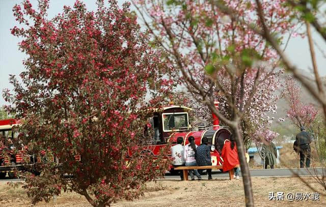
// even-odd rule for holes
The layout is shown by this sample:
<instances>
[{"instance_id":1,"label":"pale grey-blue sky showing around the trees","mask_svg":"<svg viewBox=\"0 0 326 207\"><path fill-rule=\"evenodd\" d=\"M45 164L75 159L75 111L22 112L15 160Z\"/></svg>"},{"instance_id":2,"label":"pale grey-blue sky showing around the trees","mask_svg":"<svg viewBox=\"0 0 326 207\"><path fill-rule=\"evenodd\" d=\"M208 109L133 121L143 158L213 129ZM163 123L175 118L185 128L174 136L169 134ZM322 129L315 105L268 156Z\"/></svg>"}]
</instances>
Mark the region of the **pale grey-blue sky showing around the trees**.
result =
<instances>
[{"instance_id":1,"label":"pale grey-blue sky showing around the trees","mask_svg":"<svg viewBox=\"0 0 326 207\"><path fill-rule=\"evenodd\" d=\"M12 89L9 83L9 74L19 75L24 67L22 61L25 55L18 50L19 39L10 33L10 28L17 25L12 13L15 4L19 4L21 0L0 0L0 106L7 104L2 96L5 88ZM72 6L74 0L51 0L48 10L48 17L53 17L62 12L64 5ZM95 0L84 1L89 10L95 10ZM120 0L119 5L124 1ZM37 0L31 0L32 5L37 5ZM17 25L18 26L18 25ZM313 39L319 48L326 49L326 43L323 39L313 31ZM298 68L310 72L312 70L311 56L309 52L309 44L307 38L296 37L289 41L286 54L291 58L292 63ZM326 58L322 52L315 46L317 66L319 74L326 76ZM326 54L326 51L324 51Z\"/></svg>"}]
</instances>

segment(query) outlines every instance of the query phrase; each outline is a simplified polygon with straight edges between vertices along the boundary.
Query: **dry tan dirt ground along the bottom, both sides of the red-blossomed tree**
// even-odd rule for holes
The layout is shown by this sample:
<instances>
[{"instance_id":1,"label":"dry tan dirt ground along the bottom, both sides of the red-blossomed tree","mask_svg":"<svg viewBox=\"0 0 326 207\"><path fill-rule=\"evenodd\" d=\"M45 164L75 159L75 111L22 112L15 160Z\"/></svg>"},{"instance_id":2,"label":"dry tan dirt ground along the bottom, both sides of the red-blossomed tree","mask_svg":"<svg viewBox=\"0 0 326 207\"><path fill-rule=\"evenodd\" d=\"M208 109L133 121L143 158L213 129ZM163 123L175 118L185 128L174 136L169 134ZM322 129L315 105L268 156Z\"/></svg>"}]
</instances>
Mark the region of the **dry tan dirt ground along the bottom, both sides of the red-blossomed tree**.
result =
<instances>
[{"instance_id":1,"label":"dry tan dirt ground along the bottom, both sides of the red-blossomed tree","mask_svg":"<svg viewBox=\"0 0 326 207\"><path fill-rule=\"evenodd\" d=\"M322 191L313 180L305 180ZM288 193L313 193L298 178L252 178L256 206L326 206L326 196L320 200L287 201ZM284 200L268 200L268 193L284 192ZM325 190L323 190L325 193ZM0 206L32 206L21 188L9 187L0 183ZM36 206L91 206L87 200L75 193L62 193L56 202L41 202ZM121 200L112 204L115 207L130 206L244 206L242 180L188 181L160 180L147 184L145 196L139 200Z\"/></svg>"}]
</instances>

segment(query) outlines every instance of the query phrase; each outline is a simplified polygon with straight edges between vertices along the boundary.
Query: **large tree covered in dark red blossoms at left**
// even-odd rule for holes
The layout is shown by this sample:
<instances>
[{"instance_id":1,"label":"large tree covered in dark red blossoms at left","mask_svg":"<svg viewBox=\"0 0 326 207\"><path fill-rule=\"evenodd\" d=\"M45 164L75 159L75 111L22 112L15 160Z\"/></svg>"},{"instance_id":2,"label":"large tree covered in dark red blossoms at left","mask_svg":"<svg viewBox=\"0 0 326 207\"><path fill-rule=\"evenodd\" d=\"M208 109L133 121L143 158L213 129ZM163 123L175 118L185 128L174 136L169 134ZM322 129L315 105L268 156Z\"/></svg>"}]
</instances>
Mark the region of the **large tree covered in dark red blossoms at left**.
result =
<instances>
[{"instance_id":1,"label":"large tree covered in dark red blossoms at left","mask_svg":"<svg viewBox=\"0 0 326 207\"><path fill-rule=\"evenodd\" d=\"M97 1L97 10L87 11L76 1L52 19L47 9L47 0L36 10L28 0L13 8L22 26L11 33L22 38L27 58L22 81L11 76L13 93L4 96L23 121L19 139L26 148L55 158L42 163L40 176L26 175L24 187L33 203L61 190L93 206L137 198L145 182L167 169L161 158L139 159L137 143L146 120L141 110L163 103L172 72L148 46L129 4Z\"/></svg>"}]
</instances>

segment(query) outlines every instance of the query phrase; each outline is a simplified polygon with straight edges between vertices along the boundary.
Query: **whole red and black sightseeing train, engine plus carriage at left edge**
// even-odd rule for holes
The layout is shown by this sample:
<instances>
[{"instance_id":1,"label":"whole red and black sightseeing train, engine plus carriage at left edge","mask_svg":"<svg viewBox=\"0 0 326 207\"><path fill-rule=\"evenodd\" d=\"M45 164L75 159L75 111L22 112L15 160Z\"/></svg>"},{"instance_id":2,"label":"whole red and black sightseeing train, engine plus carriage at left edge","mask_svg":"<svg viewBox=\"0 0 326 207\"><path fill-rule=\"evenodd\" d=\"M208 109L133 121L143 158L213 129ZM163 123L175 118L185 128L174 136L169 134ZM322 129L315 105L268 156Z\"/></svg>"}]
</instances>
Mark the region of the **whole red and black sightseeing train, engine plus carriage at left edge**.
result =
<instances>
[{"instance_id":1,"label":"whole red and black sightseeing train, engine plus carriage at left edge","mask_svg":"<svg viewBox=\"0 0 326 207\"><path fill-rule=\"evenodd\" d=\"M218 106L218 103L215 103ZM188 143L188 137L195 137L195 143L197 145L201 144L201 140L206 137L211 149L211 162L212 165L222 165L223 159L220 156L223 148L224 140L228 139L230 136L230 131L226 127L221 127L219 125L219 119L214 114L213 126L209 129L205 127L199 127L198 130L192 130L189 123L189 111L191 108L185 106L165 106L153 110L153 113L148 117L148 124L144 126L144 138L147 140L146 144L141 147L141 154L144 156L151 154L154 157L160 155L161 149L164 149L168 144L176 144L177 138L182 137L184 142L183 145ZM8 138L8 135L13 136L15 133L12 129L15 125L19 125L17 120L0 120L0 136ZM10 133L11 132L11 133ZM7 143L8 144L8 143ZM128 150L128 157L132 156L131 149ZM13 178L13 170L26 170L26 167L31 169L31 165L41 162L41 158L35 158L34 156L23 155L22 153L3 155L0 152L0 178L4 178L6 173L10 178ZM171 155L167 155L170 157ZM80 161L83 159L80 155L75 155L75 160ZM28 163L24 162L28 160ZM53 156L50 159L53 161ZM128 160L128 158L127 158ZM34 170L35 171L35 170ZM171 165L171 170L173 171L173 166ZM39 173L39 172L37 172Z\"/></svg>"}]
</instances>

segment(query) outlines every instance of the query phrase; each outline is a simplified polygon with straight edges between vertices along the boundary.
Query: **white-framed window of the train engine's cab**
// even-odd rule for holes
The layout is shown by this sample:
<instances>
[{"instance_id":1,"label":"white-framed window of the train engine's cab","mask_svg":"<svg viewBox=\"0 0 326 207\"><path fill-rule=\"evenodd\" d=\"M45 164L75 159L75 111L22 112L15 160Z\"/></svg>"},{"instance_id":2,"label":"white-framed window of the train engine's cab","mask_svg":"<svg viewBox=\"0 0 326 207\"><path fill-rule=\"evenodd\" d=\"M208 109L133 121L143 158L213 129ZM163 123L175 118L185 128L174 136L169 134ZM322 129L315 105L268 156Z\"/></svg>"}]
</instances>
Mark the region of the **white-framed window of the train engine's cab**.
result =
<instances>
[{"instance_id":1,"label":"white-framed window of the train engine's cab","mask_svg":"<svg viewBox=\"0 0 326 207\"><path fill-rule=\"evenodd\" d=\"M180 128L188 127L188 113L163 113L163 130L179 131Z\"/></svg>"}]
</instances>

